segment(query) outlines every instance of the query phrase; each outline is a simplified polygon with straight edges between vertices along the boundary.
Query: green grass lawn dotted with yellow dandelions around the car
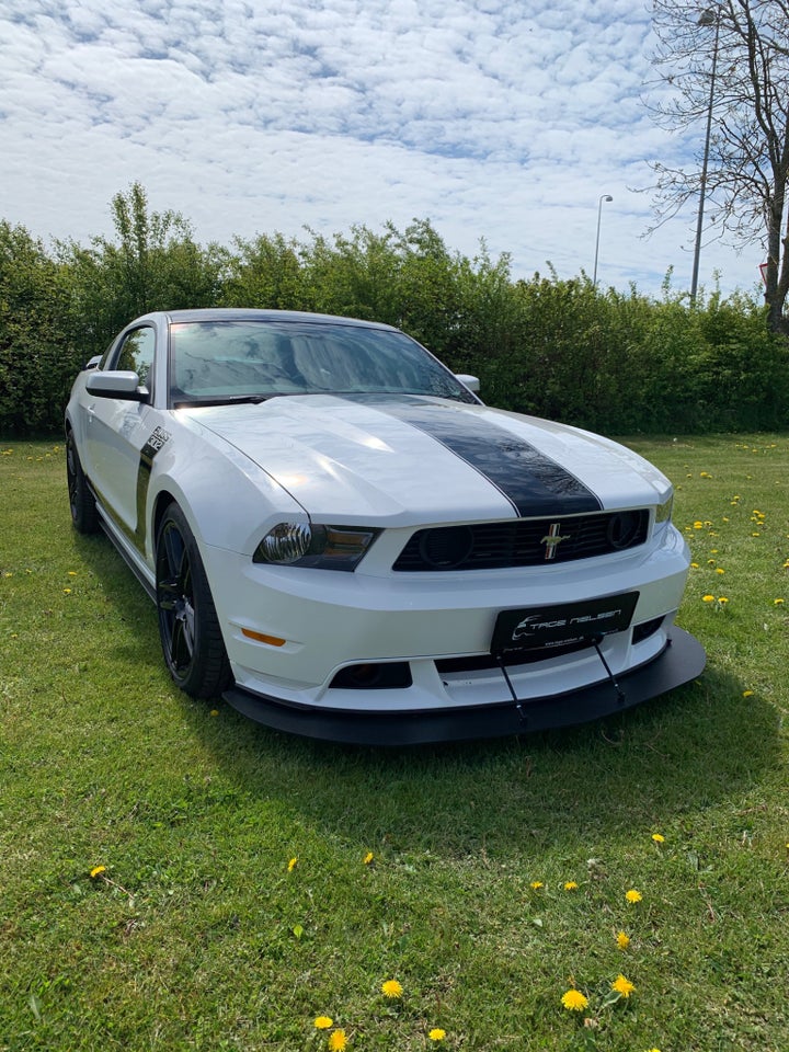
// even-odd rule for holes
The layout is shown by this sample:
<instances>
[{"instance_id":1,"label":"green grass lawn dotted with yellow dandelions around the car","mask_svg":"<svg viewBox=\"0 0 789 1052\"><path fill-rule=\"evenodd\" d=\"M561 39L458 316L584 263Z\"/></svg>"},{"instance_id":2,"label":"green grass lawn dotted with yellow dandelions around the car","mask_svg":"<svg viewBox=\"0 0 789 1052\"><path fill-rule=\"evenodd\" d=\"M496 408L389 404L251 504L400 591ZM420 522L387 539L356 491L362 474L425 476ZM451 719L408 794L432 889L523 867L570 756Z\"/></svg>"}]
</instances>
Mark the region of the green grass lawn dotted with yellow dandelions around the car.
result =
<instances>
[{"instance_id":1,"label":"green grass lawn dotted with yellow dandelions around the car","mask_svg":"<svg viewBox=\"0 0 789 1052\"><path fill-rule=\"evenodd\" d=\"M0 1050L786 1052L789 436L631 445L700 679L387 752L175 690L62 446L0 443Z\"/></svg>"}]
</instances>

